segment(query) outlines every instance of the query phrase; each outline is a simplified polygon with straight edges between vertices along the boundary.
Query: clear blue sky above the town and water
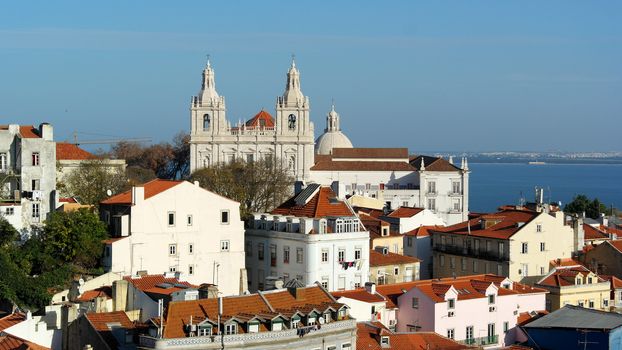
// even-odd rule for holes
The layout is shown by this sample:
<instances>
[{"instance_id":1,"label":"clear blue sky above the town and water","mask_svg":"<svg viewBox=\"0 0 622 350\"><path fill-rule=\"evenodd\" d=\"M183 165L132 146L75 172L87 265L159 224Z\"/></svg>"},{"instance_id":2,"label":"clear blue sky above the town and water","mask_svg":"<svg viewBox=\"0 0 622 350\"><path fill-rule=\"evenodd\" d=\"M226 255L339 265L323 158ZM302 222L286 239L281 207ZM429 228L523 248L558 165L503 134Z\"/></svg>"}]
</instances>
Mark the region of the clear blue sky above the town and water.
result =
<instances>
[{"instance_id":1,"label":"clear blue sky above the town and water","mask_svg":"<svg viewBox=\"0 0 622 350\"><path fill-rule=\"evenodd\" d=\"M208 53L232 121L295 53L316 136L334 98L355 146L622 150L620 1L5 2L0 123L168 140Z\"/></svg>"}]
</instances>

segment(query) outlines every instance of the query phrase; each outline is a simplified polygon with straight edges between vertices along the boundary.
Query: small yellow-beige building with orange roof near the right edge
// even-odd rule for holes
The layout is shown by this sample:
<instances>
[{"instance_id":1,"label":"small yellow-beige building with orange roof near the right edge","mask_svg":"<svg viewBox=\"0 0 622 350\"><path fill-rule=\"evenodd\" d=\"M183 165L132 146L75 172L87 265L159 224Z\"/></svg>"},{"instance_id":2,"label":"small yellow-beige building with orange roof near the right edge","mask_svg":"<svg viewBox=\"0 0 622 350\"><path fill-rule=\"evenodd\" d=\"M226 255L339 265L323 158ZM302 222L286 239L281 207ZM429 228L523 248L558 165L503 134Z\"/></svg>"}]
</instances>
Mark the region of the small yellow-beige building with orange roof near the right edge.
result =
<instances>
[{"instance_id":1,"label":"small yellow-beige building with orange roof near the right edge","mask_svg":"<svg viewBox=\"0 0 622 350\"><path fill-rule=\"evenodd\" d=\"M583 265L556 267L540 279L536 287L549 291L546 295L547 311L565 305L609 311L610 282Z\"/></svg>"}]
</instances>

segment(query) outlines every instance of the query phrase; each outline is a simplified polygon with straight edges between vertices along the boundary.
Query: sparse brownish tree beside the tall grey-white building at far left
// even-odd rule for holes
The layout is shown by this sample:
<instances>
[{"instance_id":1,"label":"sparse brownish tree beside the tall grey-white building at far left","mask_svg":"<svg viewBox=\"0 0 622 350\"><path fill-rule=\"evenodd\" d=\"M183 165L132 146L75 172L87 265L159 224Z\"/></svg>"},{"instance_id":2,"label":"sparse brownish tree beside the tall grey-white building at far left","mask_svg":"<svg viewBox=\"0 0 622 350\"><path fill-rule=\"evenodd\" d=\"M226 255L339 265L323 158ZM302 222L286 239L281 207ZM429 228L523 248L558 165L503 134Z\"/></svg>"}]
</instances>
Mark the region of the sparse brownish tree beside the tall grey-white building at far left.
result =
<instances>
[{"instance_id":1,"label":"sparse brownish tree beside the tall grey-white building at far left","mask_svg":"<svg viewBox=\"0 0 622 350\"><path fill-rule=\"evenodd\" d=\"M82 204L97 206L108 197L108 190L119 193L129 188L129 183L121 168L109 166L104 159L92 159L69 173L63 187L69 196L79 197Z\"/></svg>"}]
</instances>

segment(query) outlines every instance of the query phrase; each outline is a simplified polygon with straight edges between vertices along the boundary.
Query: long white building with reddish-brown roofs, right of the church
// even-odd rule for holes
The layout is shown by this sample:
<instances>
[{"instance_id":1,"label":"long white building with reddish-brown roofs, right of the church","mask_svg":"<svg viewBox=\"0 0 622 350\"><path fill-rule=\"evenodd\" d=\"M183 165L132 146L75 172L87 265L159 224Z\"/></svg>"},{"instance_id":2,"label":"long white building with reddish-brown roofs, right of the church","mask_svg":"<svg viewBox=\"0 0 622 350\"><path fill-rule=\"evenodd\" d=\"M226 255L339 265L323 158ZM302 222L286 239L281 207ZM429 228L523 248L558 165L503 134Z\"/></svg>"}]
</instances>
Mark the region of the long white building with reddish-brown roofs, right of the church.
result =
<instances>
[{"instance_id":1,"label":"long white building with reddish-brown roofs, right of the church","mask_svg":"<svg viewBox=\"0 0 622 350\"><path fill-rule=\"evenodd\" d=\"M469 213L469 170L450 159L410 157L407 148L333 148L317 154L311 181L338 188L340 198L362 195L383 200L389 208L432 211L448 225Z\"/></svg>"}]
</instances>

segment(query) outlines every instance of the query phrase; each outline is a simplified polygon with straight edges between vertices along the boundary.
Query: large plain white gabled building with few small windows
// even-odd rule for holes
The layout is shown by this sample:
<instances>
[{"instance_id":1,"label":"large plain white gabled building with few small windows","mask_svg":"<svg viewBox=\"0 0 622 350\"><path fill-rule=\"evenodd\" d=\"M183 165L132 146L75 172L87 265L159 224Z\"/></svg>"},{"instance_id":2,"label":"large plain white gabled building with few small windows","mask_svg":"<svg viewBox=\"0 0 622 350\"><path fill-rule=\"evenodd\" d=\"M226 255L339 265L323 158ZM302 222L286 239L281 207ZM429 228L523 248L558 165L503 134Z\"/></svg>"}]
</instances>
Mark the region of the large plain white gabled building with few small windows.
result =
<instances>
[{"instance_id":1,"label":"large plain white gabled building with few small windows","mask_svg":"<svg viewBox=\"0 0 622 350\"><path fill-rule=\"evenodd\" d=\"M133 187L101 202L112 237L103 265L123 275L181 272L192 284L239 294L246 289L239 206L187 181Z\"/></svg>"}]
</instances>

